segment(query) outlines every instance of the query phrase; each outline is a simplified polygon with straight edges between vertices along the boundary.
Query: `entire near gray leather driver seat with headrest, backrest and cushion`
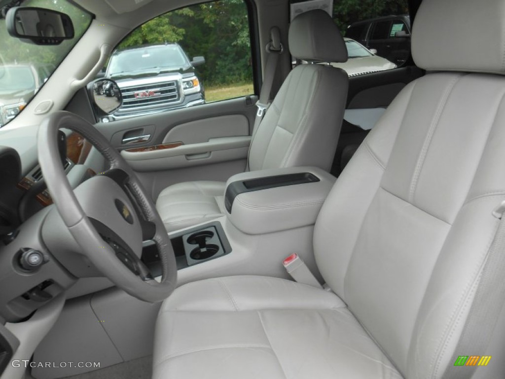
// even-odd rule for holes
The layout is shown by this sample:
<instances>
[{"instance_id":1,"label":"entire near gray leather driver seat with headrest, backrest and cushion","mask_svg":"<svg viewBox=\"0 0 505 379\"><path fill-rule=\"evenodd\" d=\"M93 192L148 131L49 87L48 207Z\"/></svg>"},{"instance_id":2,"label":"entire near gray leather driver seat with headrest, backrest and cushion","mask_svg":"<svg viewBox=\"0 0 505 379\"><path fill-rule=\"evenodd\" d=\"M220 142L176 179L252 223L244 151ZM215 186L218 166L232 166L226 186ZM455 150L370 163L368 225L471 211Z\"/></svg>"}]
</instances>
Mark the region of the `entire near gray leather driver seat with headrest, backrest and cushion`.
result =
<instances>
[{"instance_id":1,"label":"entire near gray leather driver seat with headrest, backrest and cushion","mask_svg":"<svg viewBox=\"0 0 505 379\"><path fill-rule=\"evenodd\" d=\"M154 378L505 377L502 311L493 348L457 349L505 200L504 20L504 0L423 1L412 52L428 74L384 113L315 226L332 292L188 283L160 310ZM494 362L454 365L472 354Z\"/></svg>"}]
</instances>

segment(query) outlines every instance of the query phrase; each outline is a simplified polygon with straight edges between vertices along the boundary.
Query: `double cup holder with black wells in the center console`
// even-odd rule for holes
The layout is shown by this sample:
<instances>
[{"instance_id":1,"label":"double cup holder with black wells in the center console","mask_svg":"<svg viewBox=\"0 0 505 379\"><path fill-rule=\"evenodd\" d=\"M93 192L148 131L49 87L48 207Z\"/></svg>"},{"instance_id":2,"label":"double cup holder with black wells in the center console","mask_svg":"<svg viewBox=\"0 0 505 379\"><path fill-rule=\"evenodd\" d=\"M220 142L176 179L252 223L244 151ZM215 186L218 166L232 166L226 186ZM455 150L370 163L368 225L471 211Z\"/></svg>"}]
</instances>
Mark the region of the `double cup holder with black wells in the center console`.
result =
<instances>
[{"instance_id":1,"label":"double cup holder with black wells in the center console","mask_svg":"<svg viewBox=\"0 0 505 379\"><path fill-rule=\"evenodd\" d=\"M224 255L224 249L214 226L182 236L188 266Z\"/></svg>"}]
</instances>

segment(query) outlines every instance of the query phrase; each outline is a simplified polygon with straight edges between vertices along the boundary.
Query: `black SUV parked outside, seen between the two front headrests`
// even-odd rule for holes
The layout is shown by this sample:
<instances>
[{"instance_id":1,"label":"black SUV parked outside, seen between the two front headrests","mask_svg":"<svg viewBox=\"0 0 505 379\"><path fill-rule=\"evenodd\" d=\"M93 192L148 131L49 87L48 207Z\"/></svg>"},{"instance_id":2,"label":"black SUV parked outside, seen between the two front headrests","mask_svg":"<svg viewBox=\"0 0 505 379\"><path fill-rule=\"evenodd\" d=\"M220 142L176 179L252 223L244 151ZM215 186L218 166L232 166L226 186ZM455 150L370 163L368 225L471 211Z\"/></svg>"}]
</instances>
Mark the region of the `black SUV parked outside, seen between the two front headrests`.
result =
<instances>
[{"instance_id":1,"label":"black SUV parked outside, seen between the two front headrests","mask_svg":"<svg viewBox=\"0 0 505 379\"><path fill-rule=\"evenodd\" d=\"M352 23L346 37L360 42L377 55L401 66L410 54L411 24L409 15L386 16Z\"/></svg>"}]
</instances>

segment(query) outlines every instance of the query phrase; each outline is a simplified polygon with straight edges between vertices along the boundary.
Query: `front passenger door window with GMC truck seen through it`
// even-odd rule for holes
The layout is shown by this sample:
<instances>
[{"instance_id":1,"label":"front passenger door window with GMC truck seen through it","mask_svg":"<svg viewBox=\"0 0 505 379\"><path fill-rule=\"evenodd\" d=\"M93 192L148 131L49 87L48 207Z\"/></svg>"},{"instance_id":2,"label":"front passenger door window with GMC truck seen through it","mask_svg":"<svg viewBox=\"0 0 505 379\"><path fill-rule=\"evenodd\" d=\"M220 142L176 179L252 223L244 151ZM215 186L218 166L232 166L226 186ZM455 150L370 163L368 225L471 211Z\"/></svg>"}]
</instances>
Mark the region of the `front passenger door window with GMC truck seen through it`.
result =
<instances>
[{"instance_id":1,"label":"front passenger door window with GMC truck seen through it","mask_svg":"<svg viewBox=\"0 0 505 379\"><path fill-rule=\"evenodd\" d=\"M123 95L109 121L252 94L247 6L220 0L158 16L124 38L98 76Z\"/></svg>"}]
</instances>

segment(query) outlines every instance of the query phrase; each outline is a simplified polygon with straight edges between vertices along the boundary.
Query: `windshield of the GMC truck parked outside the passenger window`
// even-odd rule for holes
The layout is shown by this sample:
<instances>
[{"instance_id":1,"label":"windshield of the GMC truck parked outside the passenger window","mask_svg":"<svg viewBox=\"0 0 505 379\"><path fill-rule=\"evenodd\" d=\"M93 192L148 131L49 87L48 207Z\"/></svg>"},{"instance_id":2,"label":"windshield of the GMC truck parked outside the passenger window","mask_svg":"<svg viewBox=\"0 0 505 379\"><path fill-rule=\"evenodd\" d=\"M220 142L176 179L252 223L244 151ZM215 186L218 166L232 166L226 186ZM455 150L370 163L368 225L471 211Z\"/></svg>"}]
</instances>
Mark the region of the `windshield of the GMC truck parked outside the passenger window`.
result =
<instances>
[{"instance_id":1,"label":"windshield of the GMC truck parked outside the passenger window","mask_svg":"<svg viewBox=\"0 0 505 379\"><path fill-rule=\"evenodd\" d=\"M179 45L148 46L124 50L111 57L107 76L148 69L180 69L189 66Z\"/></svg>"}]
</instances>

